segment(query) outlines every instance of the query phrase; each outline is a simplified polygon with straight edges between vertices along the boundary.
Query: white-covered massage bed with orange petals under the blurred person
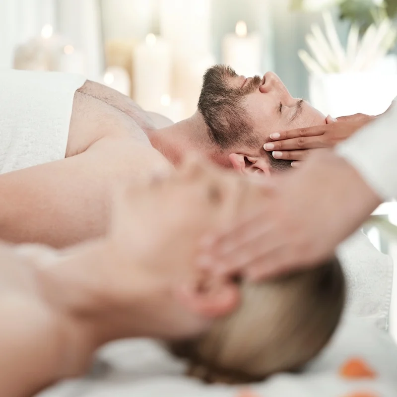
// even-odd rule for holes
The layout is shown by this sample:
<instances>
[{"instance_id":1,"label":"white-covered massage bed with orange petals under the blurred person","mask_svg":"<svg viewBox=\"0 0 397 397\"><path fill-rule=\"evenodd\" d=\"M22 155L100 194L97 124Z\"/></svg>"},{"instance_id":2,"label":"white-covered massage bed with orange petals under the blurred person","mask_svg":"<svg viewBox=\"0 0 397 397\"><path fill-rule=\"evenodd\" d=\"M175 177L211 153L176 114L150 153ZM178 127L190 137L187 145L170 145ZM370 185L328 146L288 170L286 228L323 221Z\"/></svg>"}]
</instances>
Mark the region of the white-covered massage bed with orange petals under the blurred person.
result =
<instances>
[{"instance_id":1,"label":"white-covered massage bed with orange petals under the blurred person","mask_svg":"<svg viewBox=\"0 0 397 397\"><path fill-rule=\"evenodd\" d=\"M243 387L205 385L184 376L185 363L160 344L124 340L105 346L86 377L37 397L397 397L397 344L390 332L396 329L388 327L389 320L396 324L393 261L361 233L342 244L338 256L347 280L345 314L330 343L300 373Z\"/></svg>"}]
</instances>

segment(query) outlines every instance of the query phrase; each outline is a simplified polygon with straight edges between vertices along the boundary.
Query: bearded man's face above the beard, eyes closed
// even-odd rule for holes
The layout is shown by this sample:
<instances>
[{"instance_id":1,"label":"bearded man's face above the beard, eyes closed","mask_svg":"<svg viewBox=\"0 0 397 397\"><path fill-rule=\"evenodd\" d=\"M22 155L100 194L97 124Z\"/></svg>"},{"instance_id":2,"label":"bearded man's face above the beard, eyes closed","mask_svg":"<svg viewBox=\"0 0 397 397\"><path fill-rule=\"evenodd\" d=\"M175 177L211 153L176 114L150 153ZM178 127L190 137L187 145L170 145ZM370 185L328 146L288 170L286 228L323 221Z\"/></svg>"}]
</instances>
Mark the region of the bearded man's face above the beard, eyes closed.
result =
<instances>
[{"instance_id":1,"label":"bearded man's face above the beard, eyes closed","mask_svg":"<svg viewBox=\"0 0 397 397\"><path fill-rule=\"evenodd\" d=\"M230 84L245 89L254 77L231 76ZM280 78L267 72L245 96L246 110L261 133L264 143L272 132L326 124L326 117L308 102L293 98Z\"/></svg>"}]
</instances>

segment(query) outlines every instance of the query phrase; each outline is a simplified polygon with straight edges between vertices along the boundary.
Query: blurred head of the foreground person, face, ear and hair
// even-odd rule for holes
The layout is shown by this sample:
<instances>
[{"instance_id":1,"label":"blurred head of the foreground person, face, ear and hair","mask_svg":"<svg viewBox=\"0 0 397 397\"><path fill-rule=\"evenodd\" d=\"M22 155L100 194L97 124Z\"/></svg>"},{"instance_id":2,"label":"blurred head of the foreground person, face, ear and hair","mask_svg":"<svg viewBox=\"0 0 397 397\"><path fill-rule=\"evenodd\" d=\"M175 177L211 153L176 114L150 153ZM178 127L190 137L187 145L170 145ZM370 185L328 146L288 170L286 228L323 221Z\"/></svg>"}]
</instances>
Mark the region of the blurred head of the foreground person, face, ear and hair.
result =
<instances>
[{"instance_id":1,"label":"blurred head of the foreground person, face, ear and hair","mask_svg":"<svg viewBox=\"0 0 397 397\"><path fill-rule=\"evenodd\" d=\"M146 311L155 308L168 339L179 340L171 350L206 381L254 381L297 369L327 343L342 312L344 281L336 259L257 284L193 265L208 228L247 215L265 195L249 178L196 162L150 190L138 194L135 188L128 200L130 231L118 240L150 236L145 244L139 239L146 261L152 256L145 268L156 265L148 284L164 285Z\"/></svg>"}]
</instances>

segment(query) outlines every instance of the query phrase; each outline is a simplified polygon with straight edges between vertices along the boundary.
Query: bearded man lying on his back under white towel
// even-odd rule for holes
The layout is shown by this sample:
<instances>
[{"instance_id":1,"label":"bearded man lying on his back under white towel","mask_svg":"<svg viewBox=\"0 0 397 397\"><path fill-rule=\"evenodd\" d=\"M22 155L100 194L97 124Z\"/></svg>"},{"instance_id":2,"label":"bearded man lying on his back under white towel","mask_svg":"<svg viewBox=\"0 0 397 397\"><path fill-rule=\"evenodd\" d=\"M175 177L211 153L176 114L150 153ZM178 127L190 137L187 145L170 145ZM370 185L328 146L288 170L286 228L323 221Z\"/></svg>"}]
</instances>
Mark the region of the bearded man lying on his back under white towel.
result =
<instances>
[{"instance_id":1,"label":"bearded man lying on his back under white towel","mask_svg":"<svg viewBox=\"0 0 397 397\"><path fill-rule=\"evenodd\" d=\"M207 71L198 111L177 124L80 76L13 70L0 84L0 238L12 242L103 235L115 185L189 152L244 174L287 169L263 149L269 134L326 123L274 73L246 79L224 66Z\"/></svg>"}]
</instances>

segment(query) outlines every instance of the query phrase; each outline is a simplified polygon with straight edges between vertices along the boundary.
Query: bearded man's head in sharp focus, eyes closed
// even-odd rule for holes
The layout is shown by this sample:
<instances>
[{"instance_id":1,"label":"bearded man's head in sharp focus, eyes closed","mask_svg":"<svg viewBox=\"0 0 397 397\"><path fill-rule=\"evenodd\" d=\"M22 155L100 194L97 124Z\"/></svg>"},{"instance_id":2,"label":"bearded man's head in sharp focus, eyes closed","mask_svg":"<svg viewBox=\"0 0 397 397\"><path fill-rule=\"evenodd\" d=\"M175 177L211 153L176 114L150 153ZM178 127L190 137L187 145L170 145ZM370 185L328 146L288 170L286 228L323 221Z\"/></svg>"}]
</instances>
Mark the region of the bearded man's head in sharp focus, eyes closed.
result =
<instances>
[{"instance_id":1,"label":"bearded man's head in sharp focus, eyes closed","mask_svg":"<svg viewBox=\"0 0 397 397\"><path fill-rule=\"evenodd\" d=\"M205 73L198 110L211 141L244 174L290 167L263 149L270 133L326 124L326 117L293 98L275 73L246 78L221 65Z\"/></svg>"}]
</instances>

